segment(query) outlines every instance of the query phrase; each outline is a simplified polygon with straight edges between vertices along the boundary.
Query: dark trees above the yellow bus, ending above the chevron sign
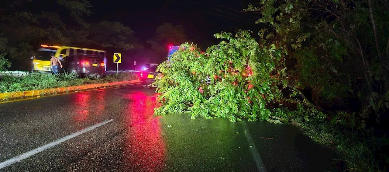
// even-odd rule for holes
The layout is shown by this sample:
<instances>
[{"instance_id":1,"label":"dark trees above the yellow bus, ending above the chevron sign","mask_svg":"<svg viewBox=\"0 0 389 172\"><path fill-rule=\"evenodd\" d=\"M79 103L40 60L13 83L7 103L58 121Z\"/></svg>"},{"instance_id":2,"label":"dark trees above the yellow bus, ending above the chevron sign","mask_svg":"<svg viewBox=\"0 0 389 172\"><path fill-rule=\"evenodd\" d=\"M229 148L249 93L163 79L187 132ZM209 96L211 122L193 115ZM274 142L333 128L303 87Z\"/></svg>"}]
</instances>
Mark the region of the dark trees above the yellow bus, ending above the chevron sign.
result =
<instances>
[{"instance_id":1,"label":"dark trees above the yellow bus, ending above the chevron sign","mask_svg":"<svg viewBox=\"0 0 389 172\"><path fill-rule=\"evenodd\" d=\"M129 27L119 22L84 21L93 14L91 7L89 0L1 1L0 54L8 53L10 60L22 63L40 44L133 48L135 39Z\"/></svg>"}]
</instances>

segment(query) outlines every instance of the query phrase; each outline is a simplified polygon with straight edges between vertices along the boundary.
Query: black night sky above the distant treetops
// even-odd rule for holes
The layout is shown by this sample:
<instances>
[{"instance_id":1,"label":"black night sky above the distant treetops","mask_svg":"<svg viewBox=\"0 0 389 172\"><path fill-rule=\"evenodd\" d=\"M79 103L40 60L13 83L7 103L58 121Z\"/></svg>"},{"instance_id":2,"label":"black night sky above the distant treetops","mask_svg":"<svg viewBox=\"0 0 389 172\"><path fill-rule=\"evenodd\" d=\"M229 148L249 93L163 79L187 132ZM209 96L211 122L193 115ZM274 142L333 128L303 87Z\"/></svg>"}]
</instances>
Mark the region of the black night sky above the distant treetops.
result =
<instances>
[{"instance_id":1,"label":"black night sky above the distant treetops","mask_svg":"<svg viewBox=\"0 0 389 172\"><path fill-rule=\"evenodd\" d=\"M254 1L254 3L257 1ZM258 15L242 12L249 0L161 0L135 3L130 1L93 0L91 21L120 21L129 26L140 41L146 41L155 34L163 23L182 25L188 38L195 42L214 40L220 31L235 32L250 29L255 32Z\"/></svg>"}]
</instances>

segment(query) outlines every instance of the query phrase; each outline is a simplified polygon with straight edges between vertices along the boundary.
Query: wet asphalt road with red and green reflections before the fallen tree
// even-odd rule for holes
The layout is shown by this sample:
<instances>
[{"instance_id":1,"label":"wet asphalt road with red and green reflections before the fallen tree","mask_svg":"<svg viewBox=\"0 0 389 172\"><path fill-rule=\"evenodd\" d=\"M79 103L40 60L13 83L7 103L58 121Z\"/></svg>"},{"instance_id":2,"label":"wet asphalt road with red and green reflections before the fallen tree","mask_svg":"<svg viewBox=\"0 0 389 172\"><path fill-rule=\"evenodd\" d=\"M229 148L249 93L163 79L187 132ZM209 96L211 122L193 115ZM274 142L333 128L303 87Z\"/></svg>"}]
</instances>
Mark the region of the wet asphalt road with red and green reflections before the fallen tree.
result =
<instances>
[{"instance_id":1,"label":"wet asphalt road with red and green reflections before the fallen tree","mask_svg":"<svg viewBox=\"0 0 389 172\"><path fill-rule=\"evenodd\" d=\"M331 163L337 159L331 149L294 126L154 116L155 106L154 90L137 85L0 104L0 164L112 120L7 167L0 165L0 172L258 172L253 152L268 172L340 170Z\"/></svg>"}]
</instances>

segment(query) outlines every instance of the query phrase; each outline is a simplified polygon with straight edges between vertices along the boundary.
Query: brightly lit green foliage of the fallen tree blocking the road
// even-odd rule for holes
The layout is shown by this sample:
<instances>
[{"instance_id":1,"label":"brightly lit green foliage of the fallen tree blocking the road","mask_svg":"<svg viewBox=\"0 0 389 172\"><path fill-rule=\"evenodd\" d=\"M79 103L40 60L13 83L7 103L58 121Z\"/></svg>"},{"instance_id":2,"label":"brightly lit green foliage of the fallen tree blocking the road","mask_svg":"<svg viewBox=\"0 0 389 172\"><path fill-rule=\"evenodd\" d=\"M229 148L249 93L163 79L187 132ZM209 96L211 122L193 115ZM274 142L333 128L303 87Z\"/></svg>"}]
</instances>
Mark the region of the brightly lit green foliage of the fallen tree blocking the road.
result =
<instances>
[{"instance_id":1,"label":"brightly lit green foliage of the fallen tree blocking the road","mask_svg":"<svg viewBox=\"0 0 389 172\"><path fill-rule=\"evenodd\" d=\"M247 31L215 37L225 41L204 54L195 44L184 43L171 62L159 65L163 77L156 84L162 106L155 112L280 122L286 115L268 105L282 97L279 81L272 77L279 75L275 69L282 51L274 44L260 45Z\"/></svg>"}]
</instances>

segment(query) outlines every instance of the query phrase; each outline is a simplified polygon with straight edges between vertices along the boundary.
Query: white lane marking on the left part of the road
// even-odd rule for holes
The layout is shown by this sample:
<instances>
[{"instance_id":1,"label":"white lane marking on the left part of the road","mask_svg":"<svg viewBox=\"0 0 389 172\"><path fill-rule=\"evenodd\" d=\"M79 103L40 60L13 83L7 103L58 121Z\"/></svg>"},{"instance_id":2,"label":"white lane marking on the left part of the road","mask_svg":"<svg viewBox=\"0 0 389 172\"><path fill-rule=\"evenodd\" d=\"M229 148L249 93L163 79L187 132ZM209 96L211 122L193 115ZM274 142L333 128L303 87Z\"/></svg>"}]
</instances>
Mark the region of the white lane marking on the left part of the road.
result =
<instances>
[{"instance_id":1,"label":"white lane marking on the left part of the road","mask_svg":"<svg viewBox=\"0 0 389 172\"><path fill-rule=\"evenodd\" d=\"M55 140L54 142L50 142L50 143L48 143L46 145L38 147L37 149L34 149L34 150L28 151L28 152L26 152L24 154L15 156L14 158L11 158L11 159L9 159L7 161L4 161L4 162L0 163L0 169L2 169L4 167L7 167L7 166L9 166L9 165L11 165L13 163L16 163L16 162L19 162L21 160L24 160L24 159L26 159L26 158L28 158L30 156L33 156L33 155L35 155L35 154L37 154L39 152L42 152L42 151L44 151L46 149L49 149L50 147L53 147L53 146L58 145L58 144L60 144L62 142L65 142L66 140L69 140L71 138L77 137L78 135L81 135L82 133L91 131L92 129L98 128L98 127L100 127L100 126L102 126L104 124L107 124L108 122L111 122L111 121L113 121L113 120L110 119L110 120L107 120L107 121L103 121L103 122L101 122L99 124L95 124L95 125L90 126L88 128L85 128L85 129L82 129L80 131L77 131L77 132L75 132L75 133L73 133L71 135L62 137L62 138L60 138L58 140Z\"/></svg>"}]
</instances>

